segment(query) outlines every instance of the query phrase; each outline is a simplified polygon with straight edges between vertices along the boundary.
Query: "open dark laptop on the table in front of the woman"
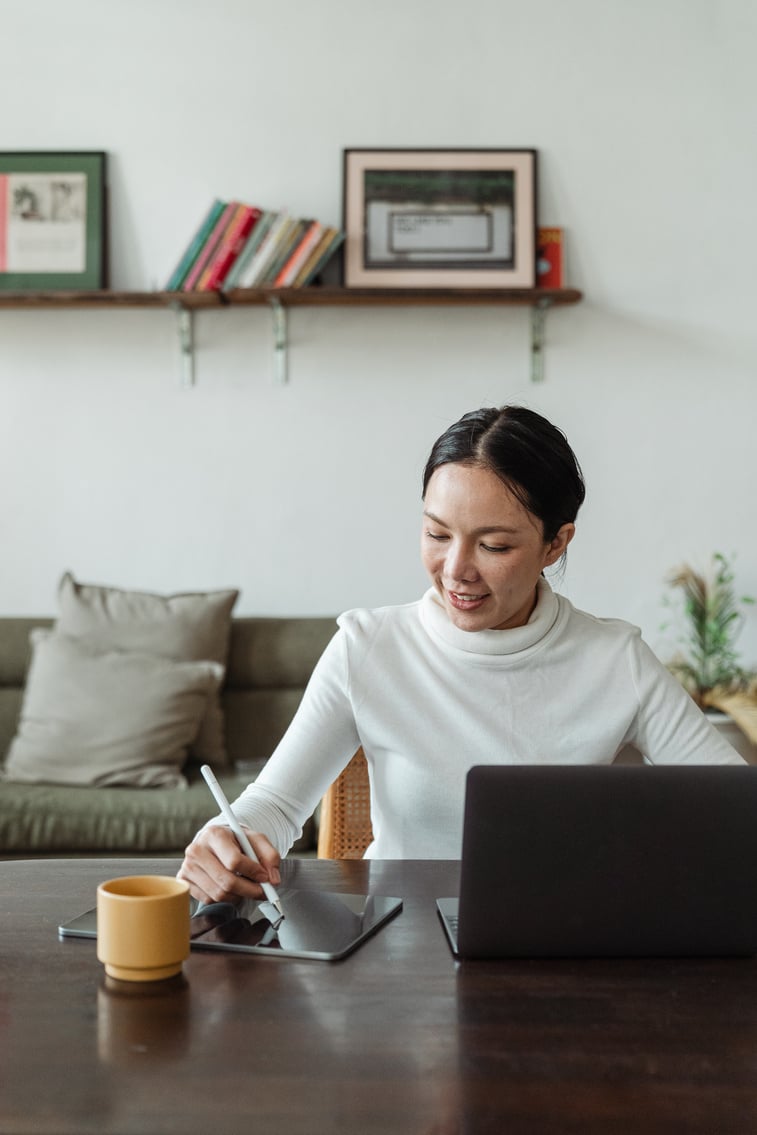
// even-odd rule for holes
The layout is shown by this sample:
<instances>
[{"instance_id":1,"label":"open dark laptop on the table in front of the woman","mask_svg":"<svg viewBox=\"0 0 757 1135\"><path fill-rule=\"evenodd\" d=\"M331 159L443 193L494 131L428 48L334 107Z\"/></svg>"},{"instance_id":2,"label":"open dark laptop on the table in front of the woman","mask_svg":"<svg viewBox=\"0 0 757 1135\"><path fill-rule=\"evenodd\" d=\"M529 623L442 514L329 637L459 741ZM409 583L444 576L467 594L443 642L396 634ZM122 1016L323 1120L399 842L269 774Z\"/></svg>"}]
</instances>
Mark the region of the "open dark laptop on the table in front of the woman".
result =
<instances>
[{"instance_id":1,"label":"open dark laptop on the table in front of the woman","mask_svg":"<svg viewBox=\"0 0 757 1135\"><path fill-rule=\"evenodd\" d=\"M757 952L757 767L479 765L457 958Z\"/></svg>"}]
</instances>

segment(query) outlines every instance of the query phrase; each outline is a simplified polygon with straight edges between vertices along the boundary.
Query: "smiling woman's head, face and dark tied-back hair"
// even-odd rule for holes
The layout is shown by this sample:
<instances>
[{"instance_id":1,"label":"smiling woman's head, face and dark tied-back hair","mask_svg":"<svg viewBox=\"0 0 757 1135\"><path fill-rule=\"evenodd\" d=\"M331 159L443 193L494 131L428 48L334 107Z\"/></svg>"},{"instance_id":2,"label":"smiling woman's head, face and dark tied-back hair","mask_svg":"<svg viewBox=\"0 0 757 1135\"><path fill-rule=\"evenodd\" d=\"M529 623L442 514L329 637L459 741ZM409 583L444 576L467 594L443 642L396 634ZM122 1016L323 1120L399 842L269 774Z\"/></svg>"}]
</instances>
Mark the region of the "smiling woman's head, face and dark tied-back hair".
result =
<instances>
[{"instance_id":1,"label":"smiling woman's head, face and dark tied-back hair","mask_svg":"<svg viewBox=\"0 0 757 1135\"><path fill-rule=\"evenodd\" d=\"M531 410L478 410L441 435L423 473L421 557L455 627L529 621L584 495L565 436Z\"/></svg>"}]
</instances>

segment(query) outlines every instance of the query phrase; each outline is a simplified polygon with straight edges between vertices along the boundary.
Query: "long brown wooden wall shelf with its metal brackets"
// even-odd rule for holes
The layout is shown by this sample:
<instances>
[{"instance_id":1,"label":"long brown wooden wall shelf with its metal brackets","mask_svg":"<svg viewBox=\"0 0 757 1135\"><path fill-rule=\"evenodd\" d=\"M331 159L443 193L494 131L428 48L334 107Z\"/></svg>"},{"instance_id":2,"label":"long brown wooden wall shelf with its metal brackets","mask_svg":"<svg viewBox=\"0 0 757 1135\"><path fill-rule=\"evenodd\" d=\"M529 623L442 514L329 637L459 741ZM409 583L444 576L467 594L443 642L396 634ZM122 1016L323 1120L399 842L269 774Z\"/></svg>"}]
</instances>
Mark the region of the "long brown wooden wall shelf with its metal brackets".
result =
<instances>
[{"instance_id":1,"label":"long brown wooden wall shelf with its metal brackets","mask_svg":"<svg viewBox=\"0 0 757 1135\"><path fill-rule=\"evenodd\" d=\"M178 318L182 385L194 382L195 311L268 306L274 317L275 378L287 379L288 308L521 306L531 309L531 379L544 378L544 320L552 306L578 303L577 288L235 288L220 292L0 292L2 309L168 308Z\"/></svg>"}]
</instances>

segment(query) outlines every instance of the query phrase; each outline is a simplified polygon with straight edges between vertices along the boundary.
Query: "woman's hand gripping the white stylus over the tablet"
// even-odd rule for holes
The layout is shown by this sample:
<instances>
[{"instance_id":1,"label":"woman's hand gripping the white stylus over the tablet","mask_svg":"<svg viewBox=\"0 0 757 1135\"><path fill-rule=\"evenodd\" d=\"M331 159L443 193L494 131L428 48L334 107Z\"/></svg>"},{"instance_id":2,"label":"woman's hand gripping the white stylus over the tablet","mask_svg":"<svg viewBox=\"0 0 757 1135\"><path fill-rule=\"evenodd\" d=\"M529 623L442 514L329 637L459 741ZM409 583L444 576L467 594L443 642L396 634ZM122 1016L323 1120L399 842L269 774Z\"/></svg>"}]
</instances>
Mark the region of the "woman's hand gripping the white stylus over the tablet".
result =
<instances>
[{"instance_id":1,"label":"woman's hand gripping the white stylus over the tablet","mask_svg":"<svg viewBox=\"0 0 757 1135\"><path fill-rule=\"evenodd\" d=\"M187 847L176 877L190 884L200 902L260 900L261 883L280 883L281 859L274 844L260 832L246 827L244 832L259 863L244 854L232 830L221 824L203 829Z\"/></svg>"}]
</instances>

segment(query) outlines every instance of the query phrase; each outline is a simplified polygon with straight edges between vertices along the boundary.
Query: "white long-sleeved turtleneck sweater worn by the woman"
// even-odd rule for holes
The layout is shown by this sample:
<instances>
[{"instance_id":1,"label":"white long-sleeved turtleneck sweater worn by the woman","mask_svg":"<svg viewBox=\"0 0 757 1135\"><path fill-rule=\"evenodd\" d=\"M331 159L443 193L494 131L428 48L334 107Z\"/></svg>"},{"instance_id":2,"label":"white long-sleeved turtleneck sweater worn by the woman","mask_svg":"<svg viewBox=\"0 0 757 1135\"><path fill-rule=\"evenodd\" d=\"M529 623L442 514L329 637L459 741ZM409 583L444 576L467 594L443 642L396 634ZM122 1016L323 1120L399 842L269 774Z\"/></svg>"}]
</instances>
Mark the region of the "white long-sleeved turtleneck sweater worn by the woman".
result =
<instances>
[{"instance_id":1,"label":"white long-sleeved turtleneck sweater worn by the woman","mask_svg":"<svg viewBox=\"0 0 757 1135\"><path fill-rule=\"evenodd\" d=\"M434 590L350 611L241 822L285 854L362 745L377 859L455 859L476 764L609 764L628 742L654 764L741 764L642 641L539 581L524 627L462 631Z\"/></svg>"}]
</instances>

